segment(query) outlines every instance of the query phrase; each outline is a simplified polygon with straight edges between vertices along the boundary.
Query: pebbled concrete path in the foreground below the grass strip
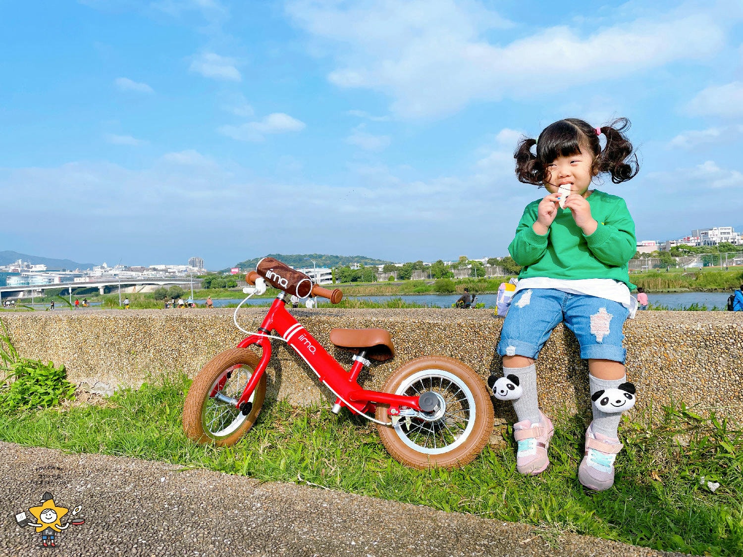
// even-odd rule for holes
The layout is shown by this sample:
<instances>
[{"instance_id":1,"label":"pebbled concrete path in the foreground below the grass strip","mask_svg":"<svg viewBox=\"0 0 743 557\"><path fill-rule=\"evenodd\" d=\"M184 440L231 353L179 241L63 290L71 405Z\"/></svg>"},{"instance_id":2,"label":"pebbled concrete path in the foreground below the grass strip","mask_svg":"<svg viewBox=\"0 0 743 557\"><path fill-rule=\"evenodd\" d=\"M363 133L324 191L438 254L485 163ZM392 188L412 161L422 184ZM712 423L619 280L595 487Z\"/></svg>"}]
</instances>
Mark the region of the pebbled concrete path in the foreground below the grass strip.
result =
<instances>
[{"instance_id":1,"label":"pebbled concrete path in the foreground below the grass strip","mask_svg":"<svg viewBox=\"0 0 743 557\"><path fill-rule=\"evenodd\" d=\"M0 556L681 556L523 524L201 469L0 442ZM16 513L82 505L57 547ZM69 515L68 515L69 516ZM62 519L65 524L68 516Z\"/></svg>"}]
</instances>

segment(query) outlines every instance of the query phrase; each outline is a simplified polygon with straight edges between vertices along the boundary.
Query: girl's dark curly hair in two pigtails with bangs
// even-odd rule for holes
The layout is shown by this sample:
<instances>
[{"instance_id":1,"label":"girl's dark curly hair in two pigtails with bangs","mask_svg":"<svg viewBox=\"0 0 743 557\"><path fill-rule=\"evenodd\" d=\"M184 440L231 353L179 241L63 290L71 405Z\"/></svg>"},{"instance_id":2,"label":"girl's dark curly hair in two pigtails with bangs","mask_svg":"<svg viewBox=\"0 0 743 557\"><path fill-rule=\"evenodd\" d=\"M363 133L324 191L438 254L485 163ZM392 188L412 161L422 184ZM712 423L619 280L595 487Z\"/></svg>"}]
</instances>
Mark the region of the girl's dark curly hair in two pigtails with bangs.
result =
<instances>
[{"instance_id":1,"label":"girl's dark curly hair in two pigtails with bangs","mask_svg":"<svg viewBox=\"0 0 743 557\"><path fill-rule=\"evenodd\" d=\"M602 150L596 128L584 120L567 118L550 124L539 134L539 140L525 137L519 142L513 154L516 177L519 182L541 186L546 179L547 166L557 157L570 157L588 150L594 157L591 175L609 172L612 182L626 182L640 170L632 143L623 133L629 126L626 118L617 118L609 126L601 126L601 133L606 136L606 146ZM531 152L534 145L536 156Z\"/></svg>"}]
</instances>

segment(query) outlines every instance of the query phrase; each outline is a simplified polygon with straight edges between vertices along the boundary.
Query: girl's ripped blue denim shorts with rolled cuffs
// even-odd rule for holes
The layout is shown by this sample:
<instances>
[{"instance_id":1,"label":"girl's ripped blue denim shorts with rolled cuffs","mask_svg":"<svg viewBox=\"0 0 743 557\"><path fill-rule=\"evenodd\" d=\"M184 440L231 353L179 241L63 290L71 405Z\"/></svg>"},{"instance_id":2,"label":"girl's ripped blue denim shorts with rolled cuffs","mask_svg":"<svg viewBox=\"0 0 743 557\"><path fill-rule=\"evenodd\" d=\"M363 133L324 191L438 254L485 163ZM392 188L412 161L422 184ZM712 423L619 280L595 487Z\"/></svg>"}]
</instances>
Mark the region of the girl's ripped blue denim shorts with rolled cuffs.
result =
<instances>
[{"instance_id":1,"label":"girl's ripped blue denim shorts with rolled cuffs","mask_svg":"<svg viewBox=\"0 0 743 557\"><path fill-rule=\"evenodd\" d=\"M554 288L519 290L511 300L498 343L501 356L536 359L559 322L573 331L582 359L624 363L622 328L629 310L605 298Z\"/></svg>"}]
</instances>

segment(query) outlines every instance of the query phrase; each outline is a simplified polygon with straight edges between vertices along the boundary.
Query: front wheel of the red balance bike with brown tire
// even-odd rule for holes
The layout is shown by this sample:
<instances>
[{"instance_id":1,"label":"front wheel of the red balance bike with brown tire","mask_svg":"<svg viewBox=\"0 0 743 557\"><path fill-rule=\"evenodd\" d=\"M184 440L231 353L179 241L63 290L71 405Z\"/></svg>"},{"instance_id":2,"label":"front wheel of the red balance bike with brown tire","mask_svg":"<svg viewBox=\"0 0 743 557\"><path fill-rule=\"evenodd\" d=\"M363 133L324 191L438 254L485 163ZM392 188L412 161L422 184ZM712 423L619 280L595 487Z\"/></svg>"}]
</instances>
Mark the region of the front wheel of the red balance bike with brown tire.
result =
<instances>
[{"instance_id":1,"label":"front wheel of the red balance bike with brown tire","mask_svg":"<svg viewBox=\"0 0 743 557\"><path fill-rule=\"evenodd\" d=\"M239 399L259 361L258 355L249 348L233 348L217 354L201 368L184 403L186 437L197 443L224 447L237 443L253 427L266 396L265 374L253 391L253 407L247 415L210 395L223 394ZM220 384L221 389L214 392Z\"/></svg>"}]
</instances>

